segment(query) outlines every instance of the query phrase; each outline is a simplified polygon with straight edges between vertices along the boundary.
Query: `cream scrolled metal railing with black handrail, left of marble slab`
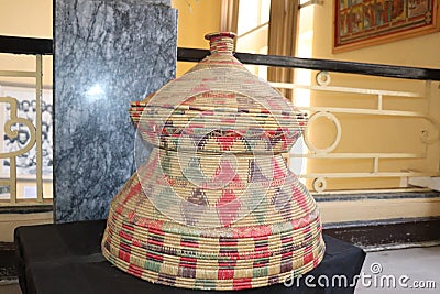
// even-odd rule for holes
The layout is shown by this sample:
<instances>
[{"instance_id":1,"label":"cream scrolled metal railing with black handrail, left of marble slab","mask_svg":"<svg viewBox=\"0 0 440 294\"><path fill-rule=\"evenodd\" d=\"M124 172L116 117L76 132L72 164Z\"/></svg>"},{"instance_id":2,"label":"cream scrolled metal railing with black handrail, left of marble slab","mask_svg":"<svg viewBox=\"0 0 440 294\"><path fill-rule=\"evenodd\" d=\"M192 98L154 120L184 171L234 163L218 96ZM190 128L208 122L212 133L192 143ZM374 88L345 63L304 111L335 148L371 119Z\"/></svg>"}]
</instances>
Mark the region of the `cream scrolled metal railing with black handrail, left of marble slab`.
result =
<instances>
[{"instance_id":1,"label":"cream scrolled metal railing with black handrail, left of marble slab","mask_svg":"<svg viewBox=\"0 0 440 294\"><path fill-rule=\"evenodd\" d=\"M43 55L52 54L52 40L32 39L32 37L14 37L0 36L0 53L6 54L26 54L35 56L35 70L0 70L0 77L34 80L35 88L35 118L30 120L19 115L18 97L4 96L0 97L0 106L4 107L4 117L2 120L4 137L1 139L2 150L0 150L0 164L4 170L9 170L9 176L0 177L0 187L7 187L9 192L8 205L28 205L43 204L43 139L42 139L42 88L43 88ZM20 84L20 81L19 81ZM1 86L1 85L0 85ZM21 140L21 133L26 138ZM29 137L29 138L28 138ZM6 146L6 139L9 145ZM35 150L35 199L26 199L24 203L18 200L18 161L30 152ZM4 164L8 163L8 164ZM2 172L3 172L2 171ZM4 204L4 202L0 202Z\"/></svg>"}]
</instances>

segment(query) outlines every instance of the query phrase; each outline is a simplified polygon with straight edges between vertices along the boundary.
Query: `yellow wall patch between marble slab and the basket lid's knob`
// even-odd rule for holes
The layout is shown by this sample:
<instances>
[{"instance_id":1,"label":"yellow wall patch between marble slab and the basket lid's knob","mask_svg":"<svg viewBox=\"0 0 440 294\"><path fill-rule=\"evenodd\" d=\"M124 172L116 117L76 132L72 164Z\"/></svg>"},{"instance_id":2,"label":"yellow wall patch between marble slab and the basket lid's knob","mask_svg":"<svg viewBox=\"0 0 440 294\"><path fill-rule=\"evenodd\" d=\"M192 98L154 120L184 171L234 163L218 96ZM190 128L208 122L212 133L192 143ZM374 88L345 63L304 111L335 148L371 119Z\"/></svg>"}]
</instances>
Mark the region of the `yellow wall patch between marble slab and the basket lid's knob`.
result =
<instances>
[{"instance_id":1,"label":"yellow wall patch between marble slab and the basket lid's knob","mask_svg":"<svg viewBox=\"0 0 440 294\"><path fill-rule=\"evenodd\" d=\"M220 30L221 0L173 0L172 3L178 10L177 45L209 48L205 35ZM193 66L193 63L178 63L177 76Z\"/></svg>"}]
</instances>

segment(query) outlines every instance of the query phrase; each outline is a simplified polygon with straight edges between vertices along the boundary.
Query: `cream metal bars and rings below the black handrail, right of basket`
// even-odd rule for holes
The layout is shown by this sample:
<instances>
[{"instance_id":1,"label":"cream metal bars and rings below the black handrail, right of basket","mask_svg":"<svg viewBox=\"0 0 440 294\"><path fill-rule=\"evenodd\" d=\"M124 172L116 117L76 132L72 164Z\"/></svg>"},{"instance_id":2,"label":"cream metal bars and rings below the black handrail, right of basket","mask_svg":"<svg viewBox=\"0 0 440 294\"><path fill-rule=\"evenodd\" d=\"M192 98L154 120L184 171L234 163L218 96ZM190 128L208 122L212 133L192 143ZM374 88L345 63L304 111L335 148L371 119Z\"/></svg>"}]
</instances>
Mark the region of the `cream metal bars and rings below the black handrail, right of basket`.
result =
<instances>
[{"instance_id":1,"label":"cream metal bars and rings below the black handrail, right of basket","mask_svg":"<svg viewBox=\"0 0 440 294\"><path fill-rule=\"evenodd\" d=\"M322 76L326 76L326 83L321 80ZM312 187L316 192L324 192L327 187L327 178L371 178L371 177L414 177L414 176L436 176L439 175L438 170L436 171L410 171L410 168L406 168L407 171L381 171L381 162L386 160L404 160L404 159L427 159L428 156L428 145L429 141L433 139L428 138L413 138L414 140L420 140L425 145L424 151L420 153L408 153L408 152L344 152L337 153L333 152L342 138L343 128L340 122L340 119L337 115L353 115L359 117L360 119L364 118L365 123L369 123L367 120L371 120L375 117L388 117L388 118L410 118L415 123L417 119L426 120L431 124L431 127L436 130L435 132L439 132L439 124L435 118L432 118L428 112L422 111L411 111L411 110L398 110L398 109L384 109L384 100L385 99L395 99L395 98L411 98L424 100L427 105L429 105L431 97L430 88L431 81L426 81L426 90L424 92L413 92L413 91L403 91L403 90L382 90L382 89L371 89L371 88L354 88L354 87L338 87L338 86L329 86L328 81L331 79L330 74L327 72L319 72L317 74L317 86L302 86L302 85L294 85L294 84L285 84L285 83L272 83L274 87L277 88L287 88L287 89L308 89L314 91L322 91L322 92L333 92L338 94L340 98L350 97L350 95L362 95L364 99L370 99L371 97L375 98L376 107L373 108L351 108L351 107L299 107L300 110L305 110L309 112L309 124L310 127L314 121L319 118L326 118L330 120L334 124L336 135L334 141L327 148L317 148L311 140L309 139L309 132L306 129L304 133L305 143L308 152L300 154L289 154L290 159L294 157L306 157L306 159L327 159L327 160L372 160L372 167L365 172L322 172L322 173L307 173L302 174L301 177L314 179ZM426 131L426 135L428 132ZM435 138L436 140L438 138ZM425 140L425 142L424 142ZM440 150L439 150L440 152Z\"/></svg>"}]
</instances>

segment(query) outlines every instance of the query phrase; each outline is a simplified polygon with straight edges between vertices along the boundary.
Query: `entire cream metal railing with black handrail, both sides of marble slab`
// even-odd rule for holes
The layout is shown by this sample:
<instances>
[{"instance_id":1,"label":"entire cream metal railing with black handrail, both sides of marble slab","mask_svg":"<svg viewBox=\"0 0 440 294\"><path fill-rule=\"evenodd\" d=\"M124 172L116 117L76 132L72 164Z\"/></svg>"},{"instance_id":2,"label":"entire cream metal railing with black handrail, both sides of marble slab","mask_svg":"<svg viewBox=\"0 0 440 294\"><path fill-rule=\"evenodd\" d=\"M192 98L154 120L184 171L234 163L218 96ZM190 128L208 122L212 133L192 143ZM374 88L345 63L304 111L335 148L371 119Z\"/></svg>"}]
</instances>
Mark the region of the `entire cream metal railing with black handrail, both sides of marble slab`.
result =
<instances>
[{"instance_id":1,"label":"entire cream metal railing with black handrail, both sides of marble slab","mask_svg":"<svg viewBox=\"0 0 440 294\"><path fill-rule=\"evenodd\" d=\"M0 104L10 105L11 116L4 123L4 133L9 138L16 138L19 132L13 128L15 124L22 123L29 129L30 140L28 144L20 150L13 152L4 152L0 150L0 160L10 160L10 177L0 178L0 187L10 187L10 199L9 205L18 205L16 198L16 156L24 154L26 151L35 145L36 150L36 199L33 204L43 203L43 183L42 183L42 119L41 119L41 92L42 92L42 55L53 54L53 42L52 40L40 40L40 39L26 39L26 37L10 37L0 36L0 53L10 54L28 54L35 56L35 70L34 72L20 72L20 70L1 70L1 77L32 77L35 79L35 100L37 102L38 110L36 112L35 124L31 123L24 118L18 116L18 101L11 97L1 97ZM196 48L178 48L177 59L179 62L199 62L209 54L207 50ZM437 162L437 168L432 171L381 171L381 162L389 159L416 159L426 160L428 159L428 152L439 152L439 150L425 149L424 152L405 153L405 152L333 152L342 138L342 126L338 116L340 115L353 115L353 116L374 116L374 117L392 117L392 118L410 118L410 119L424 119L428 121L436 132L439 131L439 124L429 113L429 105L432 99L440 97L433 97L431 92L432 81L440 80L440 69L433 68L416 68L406 66L389 66L378 64L365 64L365 63L351 63L351 62L339 62L339 61L327 61L327 59L311 59L311 58L295 58L286 56L270 56L260 54L248 54L248 53L235 53L243 64L249 65L263 65L273 67L288 67L288 68L302 68L309 70L317 70L316 83L312 85L298 85L298 84L285 84L285 83L272 83L274 87L286 88L293 90L308 90L316 94L336 92L338 95L363 95L365 97L374 97L376 99L375 108L354 108L354 107L333 107L333 106L306 106L300 109L309 112L310 121L316 121L319 118L326 118L333 122L336 128L334 141L327 148L315 146L309 140L308 133L305 133L305 146L307 152L290 153L290 159L331 159L331 160L371 160L372 168L365 172L320 172L320 173L306 173L301 176L305 178L312 179L312 187L317 192L323 192L327 187L328 178L353 178L353 177L410 177L410 176L437 176L439 175ZM354 75L365 75L371 77L383 77L383 78L397 78L403 80L421 80L425 81L424 91L408 91L408 90L395 90L395 89L372 89L369 87L346 87L346 86L333 86L330 85L329 80L331 75L329 73L343 73ZM295 95L294 95L295 97ZM402 110L402 109L389 109L384 107L384 101L394 98L410 98L421 99L426 104L427 111L419 110ZM56 135L56 134L55 134ZM414 138L419 140L419 138ZM425 140L425 141L424 141ZM421 141L427 146L438 138L428 138L428 135ZM407 168L410 170L410 168ZM31 202L32 203L32 202Z\"/></svg>"}]
</instances>

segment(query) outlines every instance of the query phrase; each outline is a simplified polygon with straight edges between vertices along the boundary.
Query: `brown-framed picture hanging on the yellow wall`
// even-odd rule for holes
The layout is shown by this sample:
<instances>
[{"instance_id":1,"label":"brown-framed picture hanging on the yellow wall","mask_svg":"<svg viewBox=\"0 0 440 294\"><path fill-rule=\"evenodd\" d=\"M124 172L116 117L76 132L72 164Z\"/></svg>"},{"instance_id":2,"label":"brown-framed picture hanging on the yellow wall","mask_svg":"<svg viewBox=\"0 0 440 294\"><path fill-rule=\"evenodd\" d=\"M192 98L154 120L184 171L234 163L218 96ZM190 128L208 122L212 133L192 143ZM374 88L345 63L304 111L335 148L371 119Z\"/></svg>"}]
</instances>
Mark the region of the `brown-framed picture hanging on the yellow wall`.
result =
<instances>
[{"instance_id":1,"label":"brown-framed picture hanging on the yellow wall","mask_svg":"<svg viewBox=\"0 0 440 294\"><path fill-rule=\"evenodd\" d=\"M333 52L440 30L439 0L334 0Z\"/></svg>"}]
</instances>

